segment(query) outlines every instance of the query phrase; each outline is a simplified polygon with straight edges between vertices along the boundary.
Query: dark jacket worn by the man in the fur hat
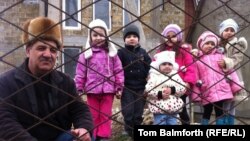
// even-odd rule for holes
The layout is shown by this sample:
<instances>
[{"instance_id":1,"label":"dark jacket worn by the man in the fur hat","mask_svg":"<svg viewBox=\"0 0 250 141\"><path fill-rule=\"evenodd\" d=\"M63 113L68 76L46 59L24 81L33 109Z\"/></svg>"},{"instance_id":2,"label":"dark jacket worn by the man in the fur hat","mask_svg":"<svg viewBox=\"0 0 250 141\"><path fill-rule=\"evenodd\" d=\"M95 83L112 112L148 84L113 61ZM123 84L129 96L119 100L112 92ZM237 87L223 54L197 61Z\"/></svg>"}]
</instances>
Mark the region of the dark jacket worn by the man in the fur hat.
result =
<instances>
[{"instance_id":1,"label":"dark jacket worn by the man in the fur hat","mask_svg":"<svg viewBox=\"0 0 250 141\"><path fill-rule=\"evenodd\" d=\"M0 76L0 140L50 141L72 126L92 130L91 113L77 97L73 79L59 71L50 73L48 104L38 108L37 79L28 73L27 62Z\"/></svg>"}]
</instances>

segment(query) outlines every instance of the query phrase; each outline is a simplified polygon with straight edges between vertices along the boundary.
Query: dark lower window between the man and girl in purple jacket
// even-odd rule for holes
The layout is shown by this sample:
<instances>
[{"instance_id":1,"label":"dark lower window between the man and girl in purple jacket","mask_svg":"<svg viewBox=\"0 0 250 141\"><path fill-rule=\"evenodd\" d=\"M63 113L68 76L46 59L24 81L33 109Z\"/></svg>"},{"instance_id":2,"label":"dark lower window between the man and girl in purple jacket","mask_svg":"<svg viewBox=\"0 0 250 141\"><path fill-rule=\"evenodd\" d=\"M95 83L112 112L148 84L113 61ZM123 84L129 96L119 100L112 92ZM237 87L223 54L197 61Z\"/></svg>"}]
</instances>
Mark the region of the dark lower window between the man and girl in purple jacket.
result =
<instances>
[{"instance_id":1,"label":"dark lower window between the man and girl in purple jacket","mask_svg":"<svg viewBox=\"0 0 250 141\"><path fill-rule=\"evenodd\" d=\"M65 47L62 54L63 72L69 74L71 78L75 77L76 65L81 48Z\"/></svg>"}]
</instances>

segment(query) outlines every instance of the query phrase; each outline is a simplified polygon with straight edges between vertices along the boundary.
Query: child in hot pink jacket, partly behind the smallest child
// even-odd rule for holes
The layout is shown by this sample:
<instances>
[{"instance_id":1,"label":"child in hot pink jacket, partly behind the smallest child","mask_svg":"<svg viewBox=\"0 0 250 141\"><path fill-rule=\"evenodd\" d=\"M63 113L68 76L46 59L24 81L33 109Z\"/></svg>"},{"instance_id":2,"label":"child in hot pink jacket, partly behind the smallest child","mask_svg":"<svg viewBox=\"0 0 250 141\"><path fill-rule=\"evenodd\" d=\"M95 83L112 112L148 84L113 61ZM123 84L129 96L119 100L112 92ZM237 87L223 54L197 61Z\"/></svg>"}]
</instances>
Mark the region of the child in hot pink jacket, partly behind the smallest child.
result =
<instances>
[{"instance_id":1,"label":"child in hot pink jacket, partly behind the smallest child","mask_svg":"<svg viewBox=\"0 0 250 141\"><path fill-rule=\"evenodd\" d=\"M178 74L182 80L186 83L187 90L192 89L192 86L196 82L195 68L193 64L193 58L190 49L183 48L182 43L182 31L181 28L176 24L169 24L165 27L162 32L164 38L161 39L161 46L158 52L169 50L175 52L176 63L180 66ZM188 47L191 48L191 47ZM167 56L166 56L167 57ZM187 91L185 95L181 96L181 99L186 104L186 97L190 91ZM186 107L183 107L180 113L182 125L189 125L190 119L187 113Z\"/></svg>"}]
</instances>

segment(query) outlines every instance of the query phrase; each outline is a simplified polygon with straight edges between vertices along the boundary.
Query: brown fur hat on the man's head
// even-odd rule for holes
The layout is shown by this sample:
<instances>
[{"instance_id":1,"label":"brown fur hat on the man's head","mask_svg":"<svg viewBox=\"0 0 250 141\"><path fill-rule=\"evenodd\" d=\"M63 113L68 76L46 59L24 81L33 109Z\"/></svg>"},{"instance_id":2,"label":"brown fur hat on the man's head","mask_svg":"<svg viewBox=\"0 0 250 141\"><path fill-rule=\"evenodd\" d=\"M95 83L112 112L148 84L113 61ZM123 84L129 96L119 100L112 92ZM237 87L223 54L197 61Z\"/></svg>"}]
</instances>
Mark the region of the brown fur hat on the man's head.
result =
<instances>
[{"instance_id":1,"label":"brown fur hat on the man's head","mask_svg":"<svg viewBox=\"0 0 250 141\"><path fill-rule=\"evenodd\" d=\"M23 30L23 43L28 43L34 39L49 39L55 41L59 49L62 48L60 25L47 17L37 17L26 21Z\"/></svg>"}]
</instances>

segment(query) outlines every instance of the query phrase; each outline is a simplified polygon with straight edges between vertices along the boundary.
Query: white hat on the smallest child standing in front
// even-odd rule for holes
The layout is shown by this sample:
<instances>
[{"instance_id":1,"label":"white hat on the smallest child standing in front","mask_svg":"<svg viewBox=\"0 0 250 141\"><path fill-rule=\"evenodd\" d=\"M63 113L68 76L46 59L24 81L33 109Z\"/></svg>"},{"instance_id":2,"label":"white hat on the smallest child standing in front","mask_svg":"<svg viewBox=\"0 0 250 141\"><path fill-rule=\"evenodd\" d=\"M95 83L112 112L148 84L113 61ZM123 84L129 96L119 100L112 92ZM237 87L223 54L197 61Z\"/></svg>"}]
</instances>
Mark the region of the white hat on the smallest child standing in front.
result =
<instances>
[{"instance_id":1,"label":"white hat on the smallest child standing in front","mask_svg":"<svg viewBox=\"0 0 250 141\"><path fill-rule=\"evenodd\" d=\"M162 51L154 55L155 61L151 63L151 66L155 69L160 69L162 63L168 62L173 65L173 70L177 71L179 65L175 62L175 52L174 51Z\"/></svg>"}]
</instances>

